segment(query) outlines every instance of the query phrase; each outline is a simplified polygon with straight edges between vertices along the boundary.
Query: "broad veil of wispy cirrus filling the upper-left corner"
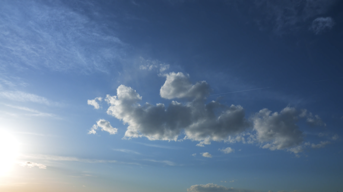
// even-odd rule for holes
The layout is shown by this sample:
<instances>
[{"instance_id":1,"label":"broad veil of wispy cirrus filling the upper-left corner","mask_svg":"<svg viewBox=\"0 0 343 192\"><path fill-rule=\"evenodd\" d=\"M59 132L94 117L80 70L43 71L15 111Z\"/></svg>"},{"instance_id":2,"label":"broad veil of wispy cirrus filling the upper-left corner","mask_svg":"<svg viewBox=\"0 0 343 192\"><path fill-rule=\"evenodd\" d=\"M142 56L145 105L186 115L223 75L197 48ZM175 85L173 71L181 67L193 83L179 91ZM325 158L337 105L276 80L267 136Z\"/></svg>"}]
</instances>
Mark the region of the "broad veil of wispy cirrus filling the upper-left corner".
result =
<instances>
[{"instance_id":1,"label":"broad veil of wispy cirrus filling the upper-left corner","mask_svg":"<svg viewBox=\"0 0 343 192\"><path fill-rule=\"evenodd\" d=\"M91 2L79 0L77 4L78 8L92 7L89 14L101 16ZM126 47L106 25L60 0L4 0L0 22L3 70L16 67L106 72L106 66L119 59Z\"/></svg>"}]
</instances>

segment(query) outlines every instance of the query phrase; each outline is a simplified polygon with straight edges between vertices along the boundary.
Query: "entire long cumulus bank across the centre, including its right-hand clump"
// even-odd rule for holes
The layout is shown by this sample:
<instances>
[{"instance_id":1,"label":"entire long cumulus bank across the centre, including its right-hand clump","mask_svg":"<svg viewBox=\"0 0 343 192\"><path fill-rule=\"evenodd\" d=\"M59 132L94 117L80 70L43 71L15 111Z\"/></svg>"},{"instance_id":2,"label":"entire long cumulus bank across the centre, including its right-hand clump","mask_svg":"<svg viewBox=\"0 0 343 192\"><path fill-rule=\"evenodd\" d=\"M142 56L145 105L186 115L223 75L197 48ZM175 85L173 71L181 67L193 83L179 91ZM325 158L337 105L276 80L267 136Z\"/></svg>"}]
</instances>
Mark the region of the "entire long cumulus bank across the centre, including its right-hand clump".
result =
<instances>
[{"instance_id":1,"label":"entire long cumulus bank across the centre, including its right-hand clump","mask_svg":"<svg viewBox=\"0 0 343 192\"><path fill-rule=\"evenodd\" d=\"M160 96L178 98L183 103L171 100L168 106L147 102L141 105L142 96L125 85L117 88L117 95L106 95L105 101L110 105L107 113L128 125L124 138L190 139L199 141L197 146L211 144L211 141L258 143L262 148L285 149L297 154L310 144L304 143L304 134L296 123L305 119L311 126L326 125L318 115L289 106L280 112L264 108L248 120L240 105L225 105L215 100L206 103L211 91L206 81L193 84L190 76L182 72L170 72L164 76L166 80L160 88ZM96 133L98 126L112 134L117 132L108 121L100 119L89 133ZM180 135L184 135L183 138L179 138ZM231 147L220 150L224 153L234 151Z\"/></svg>"}]
</instances>

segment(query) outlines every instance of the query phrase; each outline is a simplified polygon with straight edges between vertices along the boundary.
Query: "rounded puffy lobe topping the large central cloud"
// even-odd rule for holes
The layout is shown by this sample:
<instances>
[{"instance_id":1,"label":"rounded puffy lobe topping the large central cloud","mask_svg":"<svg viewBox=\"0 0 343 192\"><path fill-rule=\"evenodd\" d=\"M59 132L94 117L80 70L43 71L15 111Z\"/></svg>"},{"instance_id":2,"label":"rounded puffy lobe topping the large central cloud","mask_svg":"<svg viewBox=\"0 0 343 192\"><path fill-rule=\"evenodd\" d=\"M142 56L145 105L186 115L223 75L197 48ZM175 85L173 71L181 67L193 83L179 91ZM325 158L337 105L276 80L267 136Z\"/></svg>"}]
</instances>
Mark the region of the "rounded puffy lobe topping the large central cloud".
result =
<instances>
[{"instance_id":1,"label":"rounded puffy lobe topping the large central cloud","mask_svg":"<svg viewBox=\"0 0 343 192\"><path fill-rule=\"evenodd\" d=\"M210 93L210 85L206 81L192 84L190 76L182 72L164 75L166 80L159 91L162 98L204 98Z\"/></svg>"}]
</instances>

